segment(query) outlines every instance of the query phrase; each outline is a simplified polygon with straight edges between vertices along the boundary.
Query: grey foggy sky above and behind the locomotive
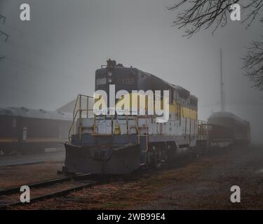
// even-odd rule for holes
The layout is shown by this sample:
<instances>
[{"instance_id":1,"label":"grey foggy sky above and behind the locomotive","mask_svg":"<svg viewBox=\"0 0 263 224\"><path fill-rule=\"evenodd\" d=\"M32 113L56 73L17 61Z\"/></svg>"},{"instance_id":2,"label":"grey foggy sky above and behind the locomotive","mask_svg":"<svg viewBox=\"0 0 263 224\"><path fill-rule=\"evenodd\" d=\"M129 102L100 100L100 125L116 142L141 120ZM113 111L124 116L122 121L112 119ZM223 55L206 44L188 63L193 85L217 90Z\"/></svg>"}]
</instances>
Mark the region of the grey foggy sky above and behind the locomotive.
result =
<instances>
[{"instance_id":1,"label":"grey foggy sky above and behind the locomotive","mask_svg":"<svg viewBox=\"0 0 263 224\"><path fill-rule=\"evenodd\" d=\"M31 21L20 21L29 3ZM0 0L0 107L56 110L93 95L95 70L116 59L181 85L198 97L198 117L220 111L220 48L225 109L249 120L252 141L263 143L263 92L243 76L245 46L257 41L262 23L249 29L229 20L227 27L199 31L192 38L172 27L175 0ZM242 18L242 15L241 15Z\"/></svg>"}]
</instances>

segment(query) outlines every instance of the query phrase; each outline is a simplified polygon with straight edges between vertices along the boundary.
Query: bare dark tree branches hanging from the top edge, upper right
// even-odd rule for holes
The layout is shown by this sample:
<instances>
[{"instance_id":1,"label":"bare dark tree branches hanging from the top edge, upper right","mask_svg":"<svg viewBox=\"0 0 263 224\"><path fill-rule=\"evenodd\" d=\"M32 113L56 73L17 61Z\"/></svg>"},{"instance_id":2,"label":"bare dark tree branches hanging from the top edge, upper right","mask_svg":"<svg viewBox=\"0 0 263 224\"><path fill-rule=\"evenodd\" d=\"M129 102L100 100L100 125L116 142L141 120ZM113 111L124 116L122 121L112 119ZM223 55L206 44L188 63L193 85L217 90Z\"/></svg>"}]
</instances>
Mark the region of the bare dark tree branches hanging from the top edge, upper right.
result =
<instances>
[{"instance_id":1,"label":"bare dark tree branches hanging from the top edge, upper right","mask_svg":"<svg viewBox=\"0 0 263 224\"><path fill-rule=\"evenodd\" d=\"M184 36L187 37L191 37L201 28L208 29L214 26L214 33L220 25L221 27L227 25L227 19L231 13L230 6L234 3L241 5L242 12L249 11L242 21L248 22L247 28L263 8L263 0L177 0L177 2L174 6L168 7L168 10L180 10L173 25L179 29L184 27Z\"/></svg>"}]
</instances>

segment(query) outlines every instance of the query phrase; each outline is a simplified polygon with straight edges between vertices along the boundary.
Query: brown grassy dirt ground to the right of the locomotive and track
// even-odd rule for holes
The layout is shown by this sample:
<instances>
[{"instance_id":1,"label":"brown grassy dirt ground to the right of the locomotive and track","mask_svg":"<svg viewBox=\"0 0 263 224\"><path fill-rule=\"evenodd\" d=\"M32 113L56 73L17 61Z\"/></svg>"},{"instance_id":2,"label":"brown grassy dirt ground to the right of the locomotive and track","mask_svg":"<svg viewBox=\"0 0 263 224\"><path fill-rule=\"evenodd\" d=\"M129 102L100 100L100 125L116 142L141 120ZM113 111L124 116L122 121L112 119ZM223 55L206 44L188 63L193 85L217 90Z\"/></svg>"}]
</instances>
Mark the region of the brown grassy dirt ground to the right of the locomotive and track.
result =
<instances>
[{"instance_id":1,"label":"brown grassy dirt ground to the right of the locomotive and track","mask_svg":"<svg viewBox=\"0 0 263 224\"><path fill-rule=\"evenodd\" d=\"M263 209L262 183L263 146L238 147L15 209Z\"/></svg>"}]
</instances>

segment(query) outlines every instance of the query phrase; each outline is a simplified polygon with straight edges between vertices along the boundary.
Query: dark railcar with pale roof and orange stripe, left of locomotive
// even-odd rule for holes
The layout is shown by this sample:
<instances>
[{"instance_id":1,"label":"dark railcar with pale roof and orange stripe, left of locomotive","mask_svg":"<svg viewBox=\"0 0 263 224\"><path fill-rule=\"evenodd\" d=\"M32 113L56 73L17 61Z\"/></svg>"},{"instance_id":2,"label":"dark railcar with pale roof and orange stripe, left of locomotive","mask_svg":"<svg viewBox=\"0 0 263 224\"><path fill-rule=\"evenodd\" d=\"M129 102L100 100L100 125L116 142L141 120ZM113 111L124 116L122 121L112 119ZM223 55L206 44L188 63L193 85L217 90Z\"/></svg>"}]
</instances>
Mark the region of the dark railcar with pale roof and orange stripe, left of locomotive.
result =
<instances>
[{"instance_id":1,"label":"dark railcar with pale roof and orange stripe, left of locomotive","mask_svg":"<svg viewBox=\"0 0 263 224\"><path fill-rule=\"evenodd\" d=\"M25 107L0 109L0 152L41 153L67 140L72 115Z\"/></svg>"}]
</instances>

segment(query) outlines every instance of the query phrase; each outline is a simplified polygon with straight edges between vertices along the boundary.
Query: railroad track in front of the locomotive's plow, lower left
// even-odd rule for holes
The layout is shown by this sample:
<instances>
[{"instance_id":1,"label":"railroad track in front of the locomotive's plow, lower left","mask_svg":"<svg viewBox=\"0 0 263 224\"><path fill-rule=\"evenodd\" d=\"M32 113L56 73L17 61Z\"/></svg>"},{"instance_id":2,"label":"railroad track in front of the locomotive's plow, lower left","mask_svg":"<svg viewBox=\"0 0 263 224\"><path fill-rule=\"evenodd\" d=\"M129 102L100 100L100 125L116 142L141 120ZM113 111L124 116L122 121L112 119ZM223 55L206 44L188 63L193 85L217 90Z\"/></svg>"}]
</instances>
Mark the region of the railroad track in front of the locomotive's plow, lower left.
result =
<instances>
[{"instance_id":1,"label":"railroad track in front of the locomotive's plow, lower left","mask_svg":"<svg viewBox=\"0 0 263 224\"><path fill-rule=\"evenodd\" d=\"M47 186L52 187L58 184L62 184L65 182L69 182L69 187L68 188L64 188L63 190L55 190L51 193L42 193L40 195L37 195L35 197L31 197L30 198L30 203L22 203L20 202L20 187L15 187L15 188L8 188L5 190L0 190L0 210L5 210L5 209L10 209L11 207L14 206L18 206L18 205L27 205L27 204L32 204L34 202L38 202L41 200L47 200L49 198L53 198L53 197L60 197L63 195L67 195L69 193L72 193L76 190L82 190L83 188L91 188L95 185L95 181L90 181L87 180L88 178L92 177L92 174L80 174L80 175L75 175L75 176L67 176L67 177L63 177L60 179L52 179L52 180L48 180L48 181L41 181L41 182L36 182L36 183L30 183L27 186L29 186L30 188L30 195L32 193L32 189L42 189L43 190L47 190ZM73 185L73 186L72 186ZM67 186L67 185L66 185ZM58 186L55 186L58 188ZM13 199L15 198L16 200L11 202L9 200L9 198L6 200L5 198L7 196L13 196ZM4 197L4 200L2 200L2 198Z\"/></svg>"}]
</instances>

